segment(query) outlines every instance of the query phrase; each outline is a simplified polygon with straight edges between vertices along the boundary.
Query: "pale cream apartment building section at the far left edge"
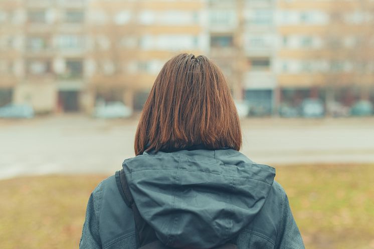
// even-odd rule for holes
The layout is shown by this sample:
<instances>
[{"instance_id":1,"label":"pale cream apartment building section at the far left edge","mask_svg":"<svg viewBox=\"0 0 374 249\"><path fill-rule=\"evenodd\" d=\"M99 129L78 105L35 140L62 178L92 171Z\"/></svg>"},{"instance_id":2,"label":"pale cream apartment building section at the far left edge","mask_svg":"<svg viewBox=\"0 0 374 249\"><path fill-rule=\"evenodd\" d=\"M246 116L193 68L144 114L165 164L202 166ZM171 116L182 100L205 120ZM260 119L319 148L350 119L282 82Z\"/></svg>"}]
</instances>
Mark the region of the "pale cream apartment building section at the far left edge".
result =
<instances>
[{"instance_id":1,"label":"pale cream apartment building section at the far left edge","mask_svg":"<svg viewBox=\"0 0 374 249\"><path fill-rule=\"evenodd\" d=\"M84 0L5 0L1 101L38 113L79 111L83 76Z\"/></svg>"}]
</instances>

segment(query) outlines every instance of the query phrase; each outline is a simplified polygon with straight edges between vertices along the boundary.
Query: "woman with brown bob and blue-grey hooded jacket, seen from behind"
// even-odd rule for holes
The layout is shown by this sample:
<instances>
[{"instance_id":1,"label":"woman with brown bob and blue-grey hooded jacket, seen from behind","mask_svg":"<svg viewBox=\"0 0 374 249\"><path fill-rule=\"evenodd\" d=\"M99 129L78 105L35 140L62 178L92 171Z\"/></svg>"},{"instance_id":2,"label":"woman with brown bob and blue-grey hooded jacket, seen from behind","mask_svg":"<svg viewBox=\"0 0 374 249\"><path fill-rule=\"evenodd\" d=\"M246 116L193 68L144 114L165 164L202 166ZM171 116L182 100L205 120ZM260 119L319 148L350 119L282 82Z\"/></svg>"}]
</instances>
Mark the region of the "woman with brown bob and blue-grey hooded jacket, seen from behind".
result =
<instances>
[{"instance_id":1,"label":"woman with brown bob and blue-grey hooded jacket, seen from behind","mask_svg":"<svg viewBox=\"0 0 374 249\"><path fill-rule=\"evenodd\" d=\"M221 70L205 56L170 59L145 103L136 156L90 196L80 248L304 248L275 169L241 144Z\"/></svg>"}]
</instances>

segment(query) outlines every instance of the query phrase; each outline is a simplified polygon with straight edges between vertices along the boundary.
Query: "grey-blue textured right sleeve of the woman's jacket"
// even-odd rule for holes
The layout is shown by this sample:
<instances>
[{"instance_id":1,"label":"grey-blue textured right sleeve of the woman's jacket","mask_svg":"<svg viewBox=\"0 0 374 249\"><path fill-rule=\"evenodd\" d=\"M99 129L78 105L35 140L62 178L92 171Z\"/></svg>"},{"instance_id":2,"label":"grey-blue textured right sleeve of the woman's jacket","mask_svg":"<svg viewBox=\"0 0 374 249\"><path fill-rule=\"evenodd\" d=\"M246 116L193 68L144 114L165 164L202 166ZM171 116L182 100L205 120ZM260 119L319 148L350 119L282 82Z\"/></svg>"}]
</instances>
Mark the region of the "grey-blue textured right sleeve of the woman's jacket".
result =
<instances>
[{"instance_id":1,"label":"grey-blue textured right sleeve of the woman's jacket","mask_svg":"<svg viewBox=\"0 0 374 249\"><path fill-rule=\"evenodd\" d=\"M284 192L282 204L282 218L275 248L278 249L305 249L299 228L293 218L288 197Z\"/></svg>"}]
</instances>

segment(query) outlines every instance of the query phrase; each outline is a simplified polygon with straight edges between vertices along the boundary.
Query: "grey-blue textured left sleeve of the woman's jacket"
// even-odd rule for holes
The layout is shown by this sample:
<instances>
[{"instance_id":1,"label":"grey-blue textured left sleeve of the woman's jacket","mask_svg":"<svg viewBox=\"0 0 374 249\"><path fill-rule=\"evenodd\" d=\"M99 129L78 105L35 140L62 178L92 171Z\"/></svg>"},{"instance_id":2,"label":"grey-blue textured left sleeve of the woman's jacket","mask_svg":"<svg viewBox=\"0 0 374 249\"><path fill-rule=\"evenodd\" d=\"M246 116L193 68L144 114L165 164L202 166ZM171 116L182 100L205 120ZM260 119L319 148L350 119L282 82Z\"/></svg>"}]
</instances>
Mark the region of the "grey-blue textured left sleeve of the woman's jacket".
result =
<instances>
[{"instance_id":1,"label":"grey-blue textured left sleeve of the woman's jacket","mask_svg":"<svg viewBox=\"0 0 374 249\"><path fill-rule=\"evenodd\" d=\"M86 210L86 220L83 224L79 249L101 249L99 222L95 212L94 196L91 194Z\"/></svg>"}]
</instances>

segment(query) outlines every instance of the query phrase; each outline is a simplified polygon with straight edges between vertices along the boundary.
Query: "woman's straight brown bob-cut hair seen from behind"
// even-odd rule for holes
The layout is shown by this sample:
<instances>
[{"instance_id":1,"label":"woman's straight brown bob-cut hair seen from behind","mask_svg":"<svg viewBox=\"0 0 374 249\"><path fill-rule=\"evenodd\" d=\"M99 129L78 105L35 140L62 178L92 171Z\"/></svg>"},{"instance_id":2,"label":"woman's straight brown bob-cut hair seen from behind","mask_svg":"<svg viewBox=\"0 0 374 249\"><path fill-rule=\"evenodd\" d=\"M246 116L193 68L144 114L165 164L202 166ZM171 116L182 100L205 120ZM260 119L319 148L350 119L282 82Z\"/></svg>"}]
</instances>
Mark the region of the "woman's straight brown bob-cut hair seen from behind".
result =
<instances>
[{"instance_id":1,"label":"woman's straight brown bob-cut hair seen from behind","mask_svg":"<svg viewBox=\"0 0 374 249\"><path fill-rule=\"evenodd\" d=\"M220 68L205 56L179 54L165 63L145 102L135 154L192 146L240 150L238 113Z\"/></svg>"}]
</instances>

